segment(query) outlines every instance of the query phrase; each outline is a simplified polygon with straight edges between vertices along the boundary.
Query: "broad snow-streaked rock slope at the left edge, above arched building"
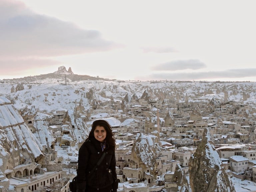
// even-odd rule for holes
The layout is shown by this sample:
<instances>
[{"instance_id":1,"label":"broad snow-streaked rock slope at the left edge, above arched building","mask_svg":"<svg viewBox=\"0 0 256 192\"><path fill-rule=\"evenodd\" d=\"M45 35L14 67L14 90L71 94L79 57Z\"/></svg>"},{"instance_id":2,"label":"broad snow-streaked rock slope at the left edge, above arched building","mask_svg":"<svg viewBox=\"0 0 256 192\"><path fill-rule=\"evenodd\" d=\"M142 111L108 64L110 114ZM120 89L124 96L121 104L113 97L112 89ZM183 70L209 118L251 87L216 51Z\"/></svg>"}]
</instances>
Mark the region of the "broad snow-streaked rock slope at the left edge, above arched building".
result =
<instances>
[{"instance_id":1,"label":"broad snow-streaked rock slope at the left edge, above arched building","mask_svg":"<svg viewBox=\"0 0 256 192\"><path fill-rule=\"evenodd\" d=\"M11 102L0 97L0 150L1 158L8 159L4 165L0 164L0 172L6 167L12 169L26 159L42 163L42 145L29 130L21 115L15 110Z\"/></svg>"}]
</instances>

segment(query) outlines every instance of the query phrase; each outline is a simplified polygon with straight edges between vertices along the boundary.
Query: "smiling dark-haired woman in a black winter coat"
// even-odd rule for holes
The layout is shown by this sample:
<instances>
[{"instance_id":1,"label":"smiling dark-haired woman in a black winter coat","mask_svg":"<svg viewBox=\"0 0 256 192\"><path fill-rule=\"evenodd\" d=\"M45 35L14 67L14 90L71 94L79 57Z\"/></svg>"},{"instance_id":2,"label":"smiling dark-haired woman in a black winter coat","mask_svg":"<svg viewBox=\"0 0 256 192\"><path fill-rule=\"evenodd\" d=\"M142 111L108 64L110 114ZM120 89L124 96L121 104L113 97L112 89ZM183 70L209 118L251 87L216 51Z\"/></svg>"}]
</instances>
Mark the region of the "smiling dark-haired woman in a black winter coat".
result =
<instances>
[{"instance_id":1,"label":"smiling dark-haired woman in a black winter coat","mask_svg":"<svg viewBox=\"0 0 256 192\"><path fill-rule=\"evenodd\" d=\"M98 165L99 159L102 161ZM88 138L79 149L77 192L116 192L116 178L115 139L111 126L103 119L95 120Z\"/></svg>"}]
</instances>

